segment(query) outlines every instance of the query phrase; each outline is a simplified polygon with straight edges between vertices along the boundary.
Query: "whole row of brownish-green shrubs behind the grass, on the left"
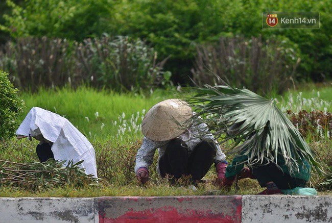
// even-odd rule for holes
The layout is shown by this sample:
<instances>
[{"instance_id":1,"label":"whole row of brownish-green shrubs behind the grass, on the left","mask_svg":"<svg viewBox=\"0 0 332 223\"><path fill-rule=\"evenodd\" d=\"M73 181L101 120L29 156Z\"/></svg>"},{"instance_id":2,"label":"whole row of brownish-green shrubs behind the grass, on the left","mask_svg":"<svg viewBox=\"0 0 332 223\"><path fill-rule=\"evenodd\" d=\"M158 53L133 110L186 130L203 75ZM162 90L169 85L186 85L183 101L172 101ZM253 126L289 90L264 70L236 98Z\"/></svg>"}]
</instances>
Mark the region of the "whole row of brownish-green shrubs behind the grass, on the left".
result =
<instances>
[{"instance_id":1,"label":"whole row of brownish-green shrubs behind the grass, on the left","mask_svg":"<svg viewBox=\"0 0 332 223\"><path fill-rule=\"evenodd\" d=\"M0 50L0 69L10 72L20 89L32 91L82 83L117 91L150 89L170 75L162 71L166 60L158 62L157 52L143 41L122 36L73 44L26 37Z\"/></svg>"}]
</instances>

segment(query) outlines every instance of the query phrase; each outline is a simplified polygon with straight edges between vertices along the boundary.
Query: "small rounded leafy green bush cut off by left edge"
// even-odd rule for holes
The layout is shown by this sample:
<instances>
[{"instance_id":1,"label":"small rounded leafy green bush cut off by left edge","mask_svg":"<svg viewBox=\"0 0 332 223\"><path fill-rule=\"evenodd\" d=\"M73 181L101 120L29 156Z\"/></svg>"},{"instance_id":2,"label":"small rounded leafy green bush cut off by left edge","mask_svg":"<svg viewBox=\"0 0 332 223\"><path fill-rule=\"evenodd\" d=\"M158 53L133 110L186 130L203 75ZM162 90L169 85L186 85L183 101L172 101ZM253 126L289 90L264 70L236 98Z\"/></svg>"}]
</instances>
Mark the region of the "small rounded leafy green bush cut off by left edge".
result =
<instances>
[{"instance_id":1,"label":"small rounded leafy green bush cut off by left edge","mask_svg":"<svg viewBox=\"0 0 332 223\"><path fill-rule=\"evenodd\" d=\"M0 140L10 138L17 128L17 116L23 107L18 90L8 79L8 73L0 70Z\"/></svg>"}]
</instances>

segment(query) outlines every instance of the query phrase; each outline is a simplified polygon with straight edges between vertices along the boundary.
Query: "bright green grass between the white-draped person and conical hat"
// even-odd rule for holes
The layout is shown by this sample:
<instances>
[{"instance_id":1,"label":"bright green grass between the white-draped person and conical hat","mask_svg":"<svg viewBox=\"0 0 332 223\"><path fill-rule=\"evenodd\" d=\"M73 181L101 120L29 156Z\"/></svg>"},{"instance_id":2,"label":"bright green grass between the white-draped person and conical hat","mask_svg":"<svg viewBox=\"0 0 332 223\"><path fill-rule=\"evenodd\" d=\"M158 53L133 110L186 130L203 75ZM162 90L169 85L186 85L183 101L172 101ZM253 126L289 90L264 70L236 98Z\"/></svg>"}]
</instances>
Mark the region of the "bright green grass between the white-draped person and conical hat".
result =
<instances>
[{"instance_id":1,"label":"bright green grass between the white-draped person and conical hat","mask_svg":"<svg viewBox=\"0 0 332 223\"><path fill-rule=\"evenodd\" d=\"M118 94L79 87L76 90L40 89L38 93L23 92L20 96L26 106L20 119L23 119L32 107L40 107L67 118L89 140L105 140L116 136L119 117L123 114L125 119L130 120L131 115L136 116L139 112L139 121L141 121L143 110L147 111L154 104L172 97L172 94L167 91L156 91L148 96ZM114 125L115 121L117 125ZM137 136L141 137L141 134Z\"/></svg>"}]
</instances>

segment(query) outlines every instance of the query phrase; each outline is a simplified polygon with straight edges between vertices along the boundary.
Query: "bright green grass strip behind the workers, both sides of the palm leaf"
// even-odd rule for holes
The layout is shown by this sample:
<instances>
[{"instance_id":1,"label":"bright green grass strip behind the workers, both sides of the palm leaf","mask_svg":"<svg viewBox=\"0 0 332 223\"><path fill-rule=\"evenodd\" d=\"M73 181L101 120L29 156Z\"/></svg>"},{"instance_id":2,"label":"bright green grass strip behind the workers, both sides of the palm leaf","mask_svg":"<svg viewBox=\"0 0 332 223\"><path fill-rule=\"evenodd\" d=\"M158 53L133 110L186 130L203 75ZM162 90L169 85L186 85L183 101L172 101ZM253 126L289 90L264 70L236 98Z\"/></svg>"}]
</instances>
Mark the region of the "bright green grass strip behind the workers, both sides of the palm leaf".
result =
<instances>
[{"instance_id":1,"label":"bright green grass strip behind the workers, both sides of the palm leaf","mask_svg":"<svg viewBox=\"0 0 332 223\"><path fill-rule=\"evenodd\" d=\"M317 96L317 92L319 97ZM300 97L300 92L301 97ZM176 94L178 97L179 94ZM290 102L290 95L293 103ZM154 104L162 100L175 97L172 91L158 90L149 95L144 94L118 94L106 90L97 91L91 88L79 87L76 90L63 88L61 90L40 89L38 93L22 92L20 95L26 108L20 116L22 120L32 107L40 107L66 117L89 140L104 141L116 136L120 129L119 117L125 114L127 124L127 137L141 138L140 131L133 134L131 116L137 116L135 125L139 126L143 110L148 111ZM181 95L180 95L181 96ZM291 109L298 112L300 108L312 110L319 109L332 111L332 85L317 88L315 85L301 86L300 90L289 91L283 96L276 97L278 106L283 110ZM305 98L305 100L303 100ZM312 100L309 103L307 99ZM99 116L96 117L96 112ZM89 120L89 121L88 121ZM116 125L114 125L116 121ZM104 123L104 125L103 125ZM122 122L123 123L123 122ZM102 128L103 126L103 128ZM131 127L132 132L129 132Z\"/></svg>"}]
</instances>

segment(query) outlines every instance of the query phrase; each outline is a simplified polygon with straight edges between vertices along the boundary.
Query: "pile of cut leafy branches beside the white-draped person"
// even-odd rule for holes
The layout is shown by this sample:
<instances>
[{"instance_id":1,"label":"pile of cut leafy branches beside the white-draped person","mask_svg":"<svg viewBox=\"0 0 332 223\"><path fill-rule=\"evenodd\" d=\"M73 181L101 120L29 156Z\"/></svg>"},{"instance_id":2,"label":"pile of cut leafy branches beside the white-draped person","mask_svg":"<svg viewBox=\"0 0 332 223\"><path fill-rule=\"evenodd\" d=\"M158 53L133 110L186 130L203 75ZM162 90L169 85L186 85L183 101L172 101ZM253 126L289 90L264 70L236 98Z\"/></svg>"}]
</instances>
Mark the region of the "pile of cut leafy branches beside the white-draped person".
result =
<instances>
[{"instance_id":1,"label":"pile of cut leafy branches beside the white-draped person","mask_svg":"<svg viewBox=\"0 0 332 223\"><path fill-rule=\"evenodd\" d=\"M0 186L10 185L21 189L37 191L45 188L73 185L80 187L97 184L98 180L92 175L86 175L79 165L83 161L73 163L69 161L57 162L50 159L44 163L16 163L0 160Z\"/></svg>"}]
</instances>

